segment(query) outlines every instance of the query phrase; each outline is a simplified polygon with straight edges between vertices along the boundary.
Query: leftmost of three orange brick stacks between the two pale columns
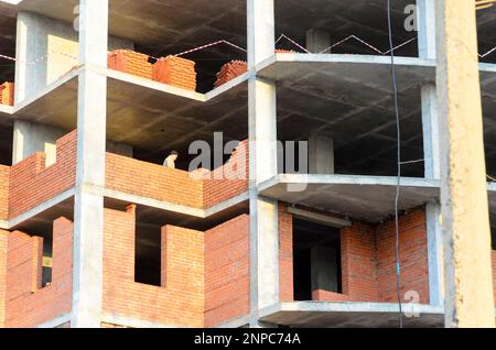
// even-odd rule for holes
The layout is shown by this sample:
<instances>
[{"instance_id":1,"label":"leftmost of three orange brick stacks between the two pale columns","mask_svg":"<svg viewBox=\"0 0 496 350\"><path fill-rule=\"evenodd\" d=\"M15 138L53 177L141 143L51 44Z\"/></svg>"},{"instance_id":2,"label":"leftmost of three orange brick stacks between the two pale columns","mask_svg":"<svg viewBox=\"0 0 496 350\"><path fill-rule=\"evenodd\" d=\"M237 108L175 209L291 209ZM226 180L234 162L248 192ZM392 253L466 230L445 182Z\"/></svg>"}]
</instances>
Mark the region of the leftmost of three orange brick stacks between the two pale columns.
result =
<instances>
[{"instance_id":1,"label":"leftmost of three orange brick stacks between the two pale columns","mask_svg":"<svg viewBox=\"0 0 496 350\"><path fill-rule=\"evenodd\" d=\"M145 79L152 78L153 65L150 56L129 50L117 50L108 54L109 69L132 74Z\"/></svg>"}]
</instances>

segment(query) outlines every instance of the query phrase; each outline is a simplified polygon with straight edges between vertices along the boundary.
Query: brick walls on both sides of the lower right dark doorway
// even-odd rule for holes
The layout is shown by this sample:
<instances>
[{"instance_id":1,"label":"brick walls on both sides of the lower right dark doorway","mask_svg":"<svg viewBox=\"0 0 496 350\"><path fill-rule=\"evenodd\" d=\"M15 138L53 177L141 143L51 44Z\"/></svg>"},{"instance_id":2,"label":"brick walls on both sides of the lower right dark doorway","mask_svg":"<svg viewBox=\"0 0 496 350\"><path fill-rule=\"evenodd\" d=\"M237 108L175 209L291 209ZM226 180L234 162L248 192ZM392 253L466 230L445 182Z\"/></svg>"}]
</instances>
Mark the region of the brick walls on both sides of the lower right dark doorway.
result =
<instances>
[{"instance_id":1,"label":"brick walls on both sides of the lower right dark doorway","mask_svg":"<svg viewBox=\"0 0 496 350\"><path fill-rule=\"evenodd\" d=\"M293 298L292 241L283 237L290 229L292 217L280 212L280 291L282 300ZM281 209L280 209L281 210ZM291 242L291 248L289 248ZM341 231L341 263L343 293L312 291L312 299L319 302L379 302L392 303L396 293L395 222L370 226L353 222ZM285 258L285 259L284 259ZM283 260L284 259L284 260ZM429 304L429 263L425 211L411 210L400 217L401 295L413 291L419 303ZM289 283L291 281L291 287Z\"/></svg>"}]
</instances>

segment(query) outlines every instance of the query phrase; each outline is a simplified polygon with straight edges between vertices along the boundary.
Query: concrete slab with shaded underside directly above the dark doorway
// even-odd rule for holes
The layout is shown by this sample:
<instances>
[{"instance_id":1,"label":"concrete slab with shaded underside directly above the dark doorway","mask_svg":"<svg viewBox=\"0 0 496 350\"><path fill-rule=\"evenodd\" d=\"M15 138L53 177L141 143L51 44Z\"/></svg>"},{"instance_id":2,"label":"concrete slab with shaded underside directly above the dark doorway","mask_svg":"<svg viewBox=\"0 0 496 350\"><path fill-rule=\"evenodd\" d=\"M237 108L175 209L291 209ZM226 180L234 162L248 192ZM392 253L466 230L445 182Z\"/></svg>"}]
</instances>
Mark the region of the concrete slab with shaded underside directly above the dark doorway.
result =
<instances>
[{"instance_id":1,"label":"concrete slab with shaded underside directly above the dark doorway","mask_svg":"<svg viewBox=\"0 0 496 350\"><path fill-rule=\"evenodd\" d=\"M378 222L395 214L395 177L348 175L279 175L259 186L262 196L289 204ZM440 184L402 178L399 208L408 210L439 200Z\"/></svg>"}]
</instances>

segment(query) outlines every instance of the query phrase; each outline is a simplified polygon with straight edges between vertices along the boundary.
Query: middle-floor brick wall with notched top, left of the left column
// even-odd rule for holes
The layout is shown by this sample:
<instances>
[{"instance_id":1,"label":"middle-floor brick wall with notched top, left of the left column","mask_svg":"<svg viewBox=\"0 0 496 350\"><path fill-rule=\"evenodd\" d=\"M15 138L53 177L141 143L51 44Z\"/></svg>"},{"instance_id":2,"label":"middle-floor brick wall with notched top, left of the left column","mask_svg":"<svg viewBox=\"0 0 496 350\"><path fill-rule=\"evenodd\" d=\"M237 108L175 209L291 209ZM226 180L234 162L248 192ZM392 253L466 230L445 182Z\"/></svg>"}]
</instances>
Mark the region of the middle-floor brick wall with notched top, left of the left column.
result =
<instances>
[{"instance_id":1,"label":"middle-floor brick wall with notched top, left of the left column","mask_svg":"<svg viewBox=\"0 0 496 350\"><path fill-rule=\"evenodd\" d=\"M11 167L10 218L14 218L74 186L76 139L76 131L73 131L56 142L56 163L50 167L45 167L44 153L36 153Z\"/></svg>"}]
</instances>

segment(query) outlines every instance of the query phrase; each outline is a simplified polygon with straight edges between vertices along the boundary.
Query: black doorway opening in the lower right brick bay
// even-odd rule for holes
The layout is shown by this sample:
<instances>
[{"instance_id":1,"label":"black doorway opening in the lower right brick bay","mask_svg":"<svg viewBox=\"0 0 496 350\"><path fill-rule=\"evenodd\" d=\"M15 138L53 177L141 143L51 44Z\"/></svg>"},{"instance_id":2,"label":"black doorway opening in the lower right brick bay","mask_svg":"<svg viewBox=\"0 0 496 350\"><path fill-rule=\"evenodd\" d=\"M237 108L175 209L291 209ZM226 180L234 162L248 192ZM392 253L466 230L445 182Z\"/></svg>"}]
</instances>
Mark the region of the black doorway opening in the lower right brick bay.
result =
<instances>
[{"instance_id":1,"label":"black doorway opening in the lower right brick bay","mask_svg":"<svg viewBox=\"0 0 496 350\"><path fill-rule=\"evenodd\" d=\"M342 293L339 230L293 219L294 300L312 300L312 292Z\"/></svg>"}]
</instances>

